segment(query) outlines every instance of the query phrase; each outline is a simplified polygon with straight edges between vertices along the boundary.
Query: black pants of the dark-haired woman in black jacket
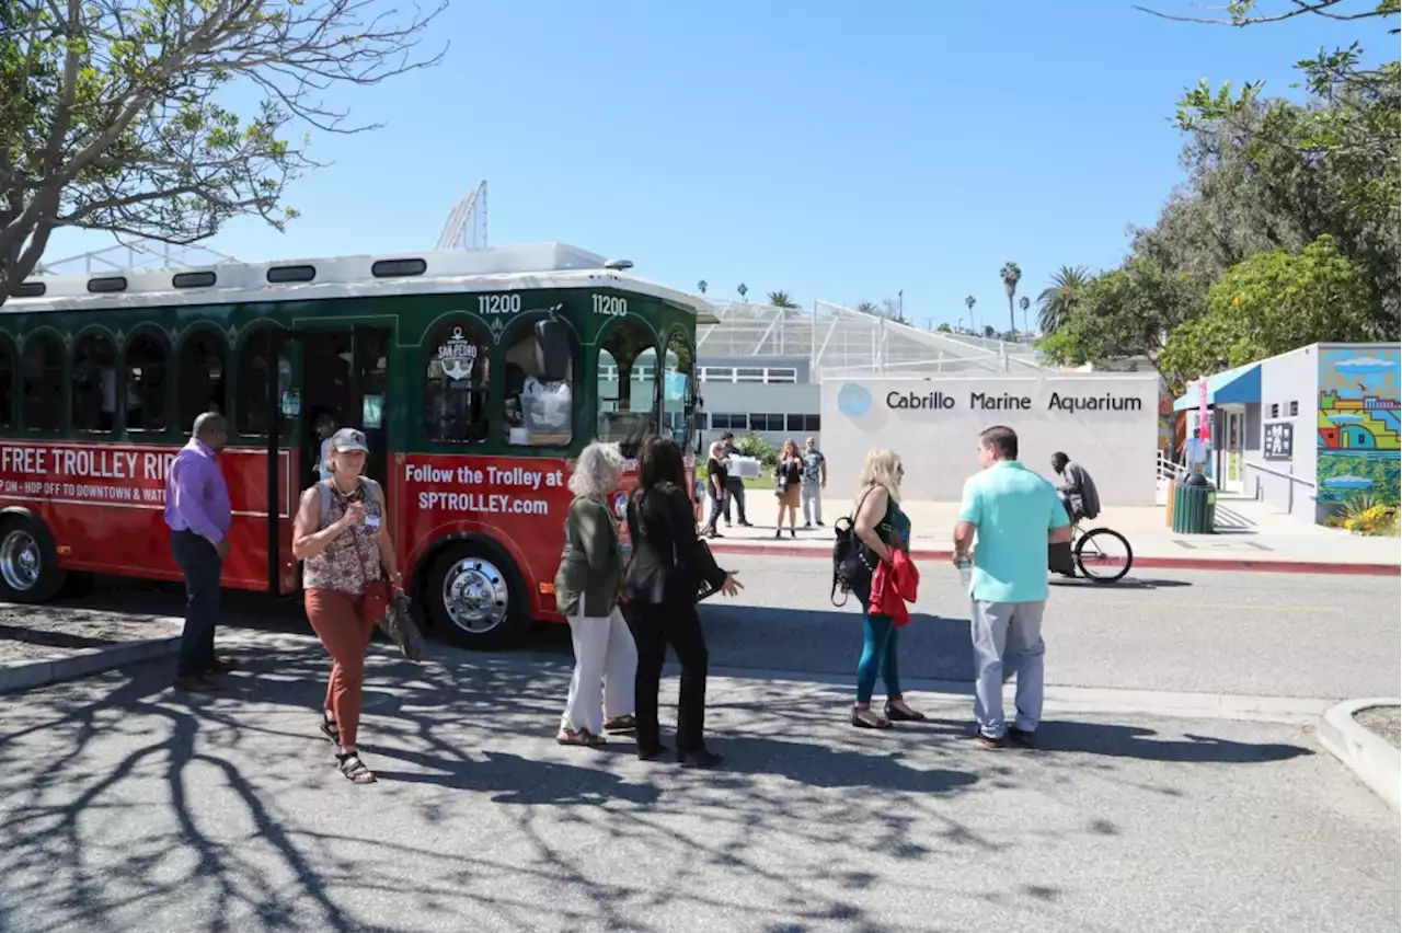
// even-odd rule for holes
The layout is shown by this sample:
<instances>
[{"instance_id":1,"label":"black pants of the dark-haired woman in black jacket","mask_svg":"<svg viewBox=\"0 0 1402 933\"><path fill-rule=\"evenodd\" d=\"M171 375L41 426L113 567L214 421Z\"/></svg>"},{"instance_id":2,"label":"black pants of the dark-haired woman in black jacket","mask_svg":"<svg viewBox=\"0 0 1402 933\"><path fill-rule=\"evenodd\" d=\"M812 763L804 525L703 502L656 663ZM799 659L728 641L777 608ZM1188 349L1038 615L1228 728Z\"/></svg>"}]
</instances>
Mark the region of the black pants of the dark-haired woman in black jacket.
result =
<instances>
[{"instance_id":1,"label":"black pants of the dark-haired woman in black jacket","mask_svg":"<svg viewBox=\"0 0 1402 933\"><path fill-rule=\"evenodd\" d=\"M705 636L695 605L638 605L634 626L638 642L638 751L662 745L658 724L658 689L667 644L681 663L681 698L677 703L677 751L705 748Z\"/></svg>"}]
</instances>

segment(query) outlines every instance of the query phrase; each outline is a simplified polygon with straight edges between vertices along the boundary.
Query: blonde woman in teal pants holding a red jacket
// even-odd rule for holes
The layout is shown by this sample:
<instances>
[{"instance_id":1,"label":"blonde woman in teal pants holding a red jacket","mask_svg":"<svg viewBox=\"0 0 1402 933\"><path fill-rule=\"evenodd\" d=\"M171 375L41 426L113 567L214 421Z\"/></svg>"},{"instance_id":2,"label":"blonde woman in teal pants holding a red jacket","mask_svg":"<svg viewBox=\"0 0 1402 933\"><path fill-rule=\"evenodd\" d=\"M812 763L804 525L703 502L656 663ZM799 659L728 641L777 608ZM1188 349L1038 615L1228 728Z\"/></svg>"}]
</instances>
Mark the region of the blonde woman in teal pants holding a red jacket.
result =
<instances>
[{"instance_id":1,"label":"blonde woman in teal pants holding a red jacket","mask_svg":"<svg viewBox=\"0 0 1402 933\"><path fill-rule=\"evenodd\" d=\"M910 518L901 511L900 481L906 468L900 457L889 450L866 454L858 481L857 516L852 530L862 544L880 560L890 560L890 549L910 552ZM900 667L896 660L896 622L889 615L873 615L869 594L858 593L862 604L862 657L857 663L857 705L852 726L858 728L889 728L892 721L920 721L925 719L906 703L900 693ZM872 691L876 675L886 684L886 714L872 712Z\"/></svg>"}]
</instances>

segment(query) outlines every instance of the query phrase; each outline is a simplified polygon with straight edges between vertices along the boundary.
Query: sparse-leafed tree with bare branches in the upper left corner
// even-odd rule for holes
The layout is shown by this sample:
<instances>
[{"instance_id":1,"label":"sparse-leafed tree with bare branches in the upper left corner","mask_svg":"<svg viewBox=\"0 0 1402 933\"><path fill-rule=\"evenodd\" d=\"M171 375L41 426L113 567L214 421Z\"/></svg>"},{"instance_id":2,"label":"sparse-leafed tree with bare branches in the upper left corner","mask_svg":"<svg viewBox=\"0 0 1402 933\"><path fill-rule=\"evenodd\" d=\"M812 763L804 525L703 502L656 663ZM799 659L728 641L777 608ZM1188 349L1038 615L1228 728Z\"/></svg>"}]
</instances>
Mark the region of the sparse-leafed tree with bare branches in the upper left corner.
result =
<instances>
[{"instance_id":1,"label":"sparse-leafed tree with bare branches in the upper left corner","mask_svg":"<svg viewBox=\"0 0 1402 933\"><path fill-rule=\"evenodd\" d=\"M60 227L174 244L247 214L282 228L287 185L317 165L293 129L372 129L322 95L436 63L418 46L442 8L0 0L0 303Z\"/></svg>"}]
</instances>

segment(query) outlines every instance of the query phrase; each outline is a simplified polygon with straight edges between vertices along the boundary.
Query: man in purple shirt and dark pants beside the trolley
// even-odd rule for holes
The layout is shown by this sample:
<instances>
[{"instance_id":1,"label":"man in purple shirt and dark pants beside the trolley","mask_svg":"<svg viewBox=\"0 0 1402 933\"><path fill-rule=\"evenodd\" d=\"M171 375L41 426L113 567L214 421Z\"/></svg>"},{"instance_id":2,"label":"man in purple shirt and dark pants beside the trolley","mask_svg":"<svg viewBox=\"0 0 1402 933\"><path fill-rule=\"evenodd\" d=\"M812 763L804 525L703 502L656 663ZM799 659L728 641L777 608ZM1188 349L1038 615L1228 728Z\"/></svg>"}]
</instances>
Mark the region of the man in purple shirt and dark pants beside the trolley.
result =
<instances>
[{"instance_id":1,"label":"man in purple shirt and dark pants beside the trolley","mask_svg":"<svg viewBox=\"0 0 1402 933\"><path fill-rule=\"evenodd\" d=\"M229 486L219 471L219 451L229 430L217 412L195 419L189 443L165 476L165 524L171 553L185 574L185 630L181 633L175 686L196 693L217 691L209 674L231 671L236 663L215 657L219 623L219 577L229 556Z\"/></svg>"}]
</instances>

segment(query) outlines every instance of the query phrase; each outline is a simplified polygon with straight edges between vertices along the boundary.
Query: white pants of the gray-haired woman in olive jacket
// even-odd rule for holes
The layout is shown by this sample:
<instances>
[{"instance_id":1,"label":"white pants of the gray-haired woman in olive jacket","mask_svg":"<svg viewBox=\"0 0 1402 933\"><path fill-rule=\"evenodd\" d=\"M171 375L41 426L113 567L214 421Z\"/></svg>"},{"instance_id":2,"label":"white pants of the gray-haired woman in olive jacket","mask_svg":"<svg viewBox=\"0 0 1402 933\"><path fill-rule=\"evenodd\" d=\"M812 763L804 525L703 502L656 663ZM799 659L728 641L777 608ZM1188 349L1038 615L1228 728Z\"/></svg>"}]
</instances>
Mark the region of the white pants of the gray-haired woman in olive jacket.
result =
<instances>
[{"instance_id":1,"label":"white pants of the gray-haired woman in olive jacket","mask_svg":"<svg viewBox=\"0 0 1402 933\"><path fill-rule=\"evenodd\" d=\"M638 647L617 607L604 618L569 616L569 637L575 643L575 675L569 678L569 699L559 726L599 735L604 730L604 707L608 719L635 712Z\"/></svg>"}]
</instances>

